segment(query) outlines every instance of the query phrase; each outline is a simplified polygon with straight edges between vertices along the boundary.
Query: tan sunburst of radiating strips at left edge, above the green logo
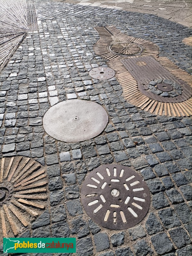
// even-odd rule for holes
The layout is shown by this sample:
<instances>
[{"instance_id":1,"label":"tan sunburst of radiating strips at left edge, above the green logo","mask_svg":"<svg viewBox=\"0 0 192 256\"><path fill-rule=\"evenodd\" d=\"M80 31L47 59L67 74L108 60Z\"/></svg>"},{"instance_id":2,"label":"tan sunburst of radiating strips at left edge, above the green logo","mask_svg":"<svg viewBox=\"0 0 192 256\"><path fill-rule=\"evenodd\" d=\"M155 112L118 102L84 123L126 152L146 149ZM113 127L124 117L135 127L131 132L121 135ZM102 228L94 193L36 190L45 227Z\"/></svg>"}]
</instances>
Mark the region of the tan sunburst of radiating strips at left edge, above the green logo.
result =
<instances>
[{"instance_id":1,"label":"tan sunburst of radiating strips at left edge, above the green logo","mask_svg":"<svg viewBox=\"0 0 192 256\"><path fill-rule=\"evenodd\" d=\"M0 241L27 227L45 209L45 168L23 157L2 158L0 165Z\"/></svg>"}]
</instances>

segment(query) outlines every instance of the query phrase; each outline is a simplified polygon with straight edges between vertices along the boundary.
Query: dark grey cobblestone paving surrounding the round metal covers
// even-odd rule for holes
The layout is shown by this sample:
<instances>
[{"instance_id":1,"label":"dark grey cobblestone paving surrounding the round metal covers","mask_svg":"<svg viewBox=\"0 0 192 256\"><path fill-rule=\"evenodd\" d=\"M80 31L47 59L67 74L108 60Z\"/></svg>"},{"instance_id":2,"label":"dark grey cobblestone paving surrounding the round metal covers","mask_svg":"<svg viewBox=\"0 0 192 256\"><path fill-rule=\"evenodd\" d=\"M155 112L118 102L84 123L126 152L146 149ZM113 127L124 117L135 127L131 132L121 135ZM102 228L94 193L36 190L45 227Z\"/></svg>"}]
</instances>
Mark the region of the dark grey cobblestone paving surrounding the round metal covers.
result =
<instances>
[{"instance_id":1,"label":"dark grey cobblestone paving surrounding the round metal covers","mask_svg":"<svg viewBox=\"0 0 192 256\"><path fill-rule=\"evenodd\" d=\"M39 30L28 32L0 76L2 156L32 157L47 167L48 207L20 236L76 237L77 256L191 255L191 118L136 108L124 100L115 77L92 79L88 71L107 65L93 51L99 40L94 27L113 25L157 44L160 56L192 74L191 48L182 43L192 30L153 14L47 0L34 4ZM69 98L101 104L109 116L104 132L80 143L47 135L45 112ZM94 223L80 200L87 173L110 163L135 169L151 195L146 217L122 231Z\"/></svg>"}]
</instances>

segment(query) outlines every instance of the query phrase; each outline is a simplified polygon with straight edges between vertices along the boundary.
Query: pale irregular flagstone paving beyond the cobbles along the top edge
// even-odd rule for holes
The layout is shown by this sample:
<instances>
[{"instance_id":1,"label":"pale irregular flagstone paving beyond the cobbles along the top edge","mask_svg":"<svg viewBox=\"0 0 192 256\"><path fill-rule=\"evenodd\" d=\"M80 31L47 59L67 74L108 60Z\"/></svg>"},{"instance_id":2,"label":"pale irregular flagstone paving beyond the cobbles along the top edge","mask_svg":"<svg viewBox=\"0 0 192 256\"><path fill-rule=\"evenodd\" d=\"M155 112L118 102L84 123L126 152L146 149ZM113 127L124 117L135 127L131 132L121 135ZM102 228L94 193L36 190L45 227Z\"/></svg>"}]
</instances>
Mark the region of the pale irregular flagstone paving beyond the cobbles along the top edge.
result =
<instances>
[{"instance_id":1,"label":"pale irregular flagstone paving beyond the cobbles along the top edge","mask_svg":"<svg viewBox=\"0 0 192 256\"><path fill-rule=\"evenodd\" d=\"M178 22L184 26L192 27L191 0L54 0L80 5L99 6L125 10L129 12L141 12L155 14L167 20ZM77 3L78 2L78 3Z\"/></svg>"}]
</instances>

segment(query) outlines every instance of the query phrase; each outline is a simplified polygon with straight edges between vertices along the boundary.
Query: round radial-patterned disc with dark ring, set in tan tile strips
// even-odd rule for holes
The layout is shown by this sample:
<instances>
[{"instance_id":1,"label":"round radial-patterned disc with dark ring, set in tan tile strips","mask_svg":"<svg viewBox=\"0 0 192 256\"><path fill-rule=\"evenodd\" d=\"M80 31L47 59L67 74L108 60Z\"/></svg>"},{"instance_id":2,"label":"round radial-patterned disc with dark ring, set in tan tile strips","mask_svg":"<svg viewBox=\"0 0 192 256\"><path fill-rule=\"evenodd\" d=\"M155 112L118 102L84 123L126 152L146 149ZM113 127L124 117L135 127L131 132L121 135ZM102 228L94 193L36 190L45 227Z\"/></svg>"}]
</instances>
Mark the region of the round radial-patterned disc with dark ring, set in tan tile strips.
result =
<instances>
[{"instance_id":1,"label":"round radial-patterned disc with dark ring, set in tan tile strips","mask_svg":"<svg viewBox=\"0 0 192 256\"><path fill-rule=\"evenodd\" d=\"M143 48L141 45L131 42L116 42L109 46L109 50L119 55L134 56L141 54Z\"/></svg>"}]
</instances>

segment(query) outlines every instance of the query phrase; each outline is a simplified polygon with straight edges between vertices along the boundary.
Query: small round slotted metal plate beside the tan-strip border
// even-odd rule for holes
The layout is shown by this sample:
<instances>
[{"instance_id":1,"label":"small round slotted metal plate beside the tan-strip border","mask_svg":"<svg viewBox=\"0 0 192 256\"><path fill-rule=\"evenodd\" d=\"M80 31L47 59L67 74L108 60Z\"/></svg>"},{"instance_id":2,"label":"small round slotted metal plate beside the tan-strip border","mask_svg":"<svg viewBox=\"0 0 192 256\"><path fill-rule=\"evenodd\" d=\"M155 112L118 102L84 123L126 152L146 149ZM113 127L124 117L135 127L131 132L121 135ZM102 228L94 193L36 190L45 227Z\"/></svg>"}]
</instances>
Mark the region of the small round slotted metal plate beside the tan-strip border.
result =
<instances>
[{"instance_id":1,"label":"small round slotted metal plate beside the tan-strip border","mask_svg":"<svg viewBox=\"0 0 192 256\"><path fill-rule=\"evenodd\" d=\"M97 67L89 71L89 75L98 80L110 79L115 76L115 71L112 68Z\"/></svg>"}]
</instances>

